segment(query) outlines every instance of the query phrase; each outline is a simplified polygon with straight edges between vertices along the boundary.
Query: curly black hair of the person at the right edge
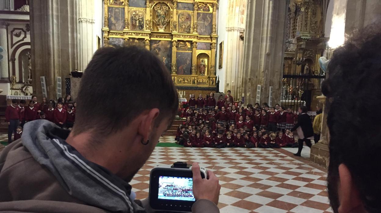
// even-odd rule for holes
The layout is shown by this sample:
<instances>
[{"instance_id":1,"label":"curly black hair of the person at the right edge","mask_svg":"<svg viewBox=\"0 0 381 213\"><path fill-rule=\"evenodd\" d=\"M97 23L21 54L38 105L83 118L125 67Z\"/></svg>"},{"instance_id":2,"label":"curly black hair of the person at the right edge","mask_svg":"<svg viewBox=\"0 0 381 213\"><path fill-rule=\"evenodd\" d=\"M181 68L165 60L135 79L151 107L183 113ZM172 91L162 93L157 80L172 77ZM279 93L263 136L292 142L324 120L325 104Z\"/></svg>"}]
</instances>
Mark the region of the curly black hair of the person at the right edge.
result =
<instances>
[{"instance_id":1,"label":"curly black hair of the person at the right edge","mask_svg":"<svg viewBox=\"0 0 381 213\"><path fill-rule=\"evenodd\" d=\"M337 48L322 83L330 131L328 194L338 212L338 167L347 166L368 212L381 212L381 27L354 32Z\"/></svg>"}]
</instances>

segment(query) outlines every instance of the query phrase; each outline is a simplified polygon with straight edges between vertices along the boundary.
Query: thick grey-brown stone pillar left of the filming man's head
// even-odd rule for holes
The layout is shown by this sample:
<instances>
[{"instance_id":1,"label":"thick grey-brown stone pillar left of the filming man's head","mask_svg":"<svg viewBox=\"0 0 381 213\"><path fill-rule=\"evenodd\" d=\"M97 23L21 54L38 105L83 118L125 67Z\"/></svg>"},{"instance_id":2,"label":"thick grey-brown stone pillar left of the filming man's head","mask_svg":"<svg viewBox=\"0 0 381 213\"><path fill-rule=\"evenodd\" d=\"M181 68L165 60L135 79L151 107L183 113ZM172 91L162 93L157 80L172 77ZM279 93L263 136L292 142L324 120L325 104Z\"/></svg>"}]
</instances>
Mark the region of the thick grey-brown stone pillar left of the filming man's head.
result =
<instances>
[{"instance_id":1,"label":"thick grey-brown stone pillar left of the filming man's head","mask_svg":"<svg viewBox=\"0 0 381 213\"><path fill-rule=\"evenodd\" d=\"M33 93L38 99L42 99L40 76L45 76L47 98L57 99L57 77L64 80L78 68L77 26L77 0L30 1Z\"/></svg>"}]
</instances>

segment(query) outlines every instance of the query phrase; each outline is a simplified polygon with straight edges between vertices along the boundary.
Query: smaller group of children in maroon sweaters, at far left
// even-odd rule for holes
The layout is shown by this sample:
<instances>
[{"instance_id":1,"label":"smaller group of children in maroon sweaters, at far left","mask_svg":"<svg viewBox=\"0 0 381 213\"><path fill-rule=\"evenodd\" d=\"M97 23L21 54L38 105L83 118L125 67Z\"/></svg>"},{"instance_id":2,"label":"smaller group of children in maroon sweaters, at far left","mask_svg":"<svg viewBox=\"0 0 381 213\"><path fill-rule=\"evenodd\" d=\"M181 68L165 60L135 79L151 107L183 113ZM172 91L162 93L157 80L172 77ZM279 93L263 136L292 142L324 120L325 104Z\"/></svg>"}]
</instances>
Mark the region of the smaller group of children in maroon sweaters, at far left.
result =
<instances>
[{"instance_id":1,"label":"smaller group of children in maroon sweaters, at far left","mask_svg":"<svg viewBox=\"0 0 381 213\"><path fill-rule=\"evenodd\" d=\"M70 95L67 95L65 98L59 98L57 103L54 100L46 102L45 97L41 103L38 103L37 97L32 96L28 106L25 105L25 100L18 101L13 99L12 104L5 111L5 119L9 125L8 143L11 142L13 132L14 140L21 138L24 124L33 120L46 119L55 123L60 128L67 129L71 129L74 125L76 103L71 100Z\"/></svg>"}]
</instances>

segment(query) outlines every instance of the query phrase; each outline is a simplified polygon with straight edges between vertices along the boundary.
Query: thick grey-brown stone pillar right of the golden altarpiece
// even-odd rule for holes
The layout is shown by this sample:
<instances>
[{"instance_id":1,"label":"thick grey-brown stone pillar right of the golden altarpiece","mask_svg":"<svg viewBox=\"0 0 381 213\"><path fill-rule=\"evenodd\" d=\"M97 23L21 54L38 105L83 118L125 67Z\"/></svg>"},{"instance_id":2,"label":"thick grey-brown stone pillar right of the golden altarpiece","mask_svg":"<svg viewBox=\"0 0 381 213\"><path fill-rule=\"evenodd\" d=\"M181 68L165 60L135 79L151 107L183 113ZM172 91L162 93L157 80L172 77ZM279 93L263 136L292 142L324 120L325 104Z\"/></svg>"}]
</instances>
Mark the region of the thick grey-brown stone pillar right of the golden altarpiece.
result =
<instances>
[{"instance_id":1,"label":"thick grey-brown stone pillar right of the golden altarpiece","mask_svg":"<svg viewBox=\"0 0 381 213\"><path fill-rule=\"evenodd\" d=\"M272 102L280 100L288 4L288 0L248 2L242 92L239 92L244 93L246 103L256 102L257 85L261 85L259 102L268 101L270 86L273 87Z\"/></svg>"}]
</instances>

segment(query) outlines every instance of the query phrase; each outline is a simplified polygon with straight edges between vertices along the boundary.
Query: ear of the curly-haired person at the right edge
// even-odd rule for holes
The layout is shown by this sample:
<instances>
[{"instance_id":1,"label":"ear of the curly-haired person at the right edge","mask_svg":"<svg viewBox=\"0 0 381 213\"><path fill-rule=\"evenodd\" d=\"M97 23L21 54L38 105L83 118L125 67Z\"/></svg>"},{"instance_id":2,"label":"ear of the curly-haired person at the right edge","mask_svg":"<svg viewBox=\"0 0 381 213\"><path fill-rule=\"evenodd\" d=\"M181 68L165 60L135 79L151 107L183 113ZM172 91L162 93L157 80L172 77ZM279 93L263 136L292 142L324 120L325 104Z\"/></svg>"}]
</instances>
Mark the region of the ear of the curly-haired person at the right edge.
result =
<instances>
[{"instance_id":1,"label":"ear of the curly-haired person at the right edge","mask_svg":"<svg viewBox=\"0 0 381 213\"><path fill-rule=\"evenodd\" d=\"M355 209L358 209L362 206L360 200L359 191L354 185L352 180L351 171L344 164L339 165L339 213L355 212Z\"/></svg>"}]
</instances>

